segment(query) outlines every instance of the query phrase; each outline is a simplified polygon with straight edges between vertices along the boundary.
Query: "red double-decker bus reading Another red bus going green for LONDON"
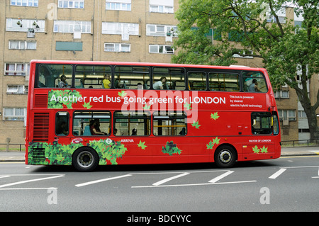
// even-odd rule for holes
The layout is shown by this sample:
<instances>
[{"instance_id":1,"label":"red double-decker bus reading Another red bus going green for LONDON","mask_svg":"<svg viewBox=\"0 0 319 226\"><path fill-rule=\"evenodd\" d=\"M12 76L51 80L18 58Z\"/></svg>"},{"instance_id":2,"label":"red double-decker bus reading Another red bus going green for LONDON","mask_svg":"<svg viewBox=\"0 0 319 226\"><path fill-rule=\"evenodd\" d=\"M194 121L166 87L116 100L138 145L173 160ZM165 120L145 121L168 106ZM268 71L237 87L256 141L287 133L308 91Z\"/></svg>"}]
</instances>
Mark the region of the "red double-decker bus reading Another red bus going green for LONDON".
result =
<instances>
[{"instance_id":1,"label":"red double-decker bus reading Another red bus going green for LONDON","mask_svg":"<svg viewBox=\"0 0 319 226\"><path fill-rule=\"evenodd\" d=\"M267 71L135 62L30 62L26 164L167 164L280 157Z\"/></svg>"}]
</instances>

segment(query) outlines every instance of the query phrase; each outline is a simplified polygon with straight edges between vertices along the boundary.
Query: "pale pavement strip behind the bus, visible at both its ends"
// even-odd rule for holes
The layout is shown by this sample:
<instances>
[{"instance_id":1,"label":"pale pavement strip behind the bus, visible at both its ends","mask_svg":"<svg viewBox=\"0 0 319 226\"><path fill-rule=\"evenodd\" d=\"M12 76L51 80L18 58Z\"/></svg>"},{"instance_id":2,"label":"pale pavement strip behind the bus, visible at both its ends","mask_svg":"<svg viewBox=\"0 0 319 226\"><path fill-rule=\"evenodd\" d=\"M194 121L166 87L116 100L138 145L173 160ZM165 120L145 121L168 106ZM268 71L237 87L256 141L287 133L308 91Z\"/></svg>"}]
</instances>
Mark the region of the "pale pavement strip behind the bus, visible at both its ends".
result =
<instances>
[{"instance_id":1,"label":"pale pavement strip behind the bus, visible at both its ends","mask_svg":"<svg viewBox=\"0 0 319 226\"><path fill-rule=\"evenodd\" d=\"M0 152L0 162L25 162L25 152ZM319 155L319 146L281 147L281 157Z\"/></svg>"}]
</instances>

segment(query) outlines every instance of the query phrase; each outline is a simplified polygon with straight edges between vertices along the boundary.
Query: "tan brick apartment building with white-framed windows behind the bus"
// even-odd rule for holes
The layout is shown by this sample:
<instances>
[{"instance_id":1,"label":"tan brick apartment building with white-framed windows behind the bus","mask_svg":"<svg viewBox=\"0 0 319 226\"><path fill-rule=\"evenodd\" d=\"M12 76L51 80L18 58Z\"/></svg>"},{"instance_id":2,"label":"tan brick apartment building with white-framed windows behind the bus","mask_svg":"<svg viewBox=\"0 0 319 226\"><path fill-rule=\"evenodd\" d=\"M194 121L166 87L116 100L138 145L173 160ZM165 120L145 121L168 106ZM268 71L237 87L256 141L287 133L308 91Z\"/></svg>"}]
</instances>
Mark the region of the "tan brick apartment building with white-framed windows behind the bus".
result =
<instances>
[{"instance_id":1,"label":"tan brick apartment building with white-framed windows behind the bus","mask_svg":"<svg viewBox=\"0 0 319 226\"><path fill-rule=\"evenodd\" d=\"M24 142L30 60L169 63L175 51L172 44L178 38L174 18L178 2L0 1L0 143L7 138L11 143ZM237 60L240 65L263 66L254 58ZM315 89L318 84L317 79L311 86ZM276 97L283 140L298 140L298 111L303 114L295 92L284 87Z\"/></svg>"}]
</instances>

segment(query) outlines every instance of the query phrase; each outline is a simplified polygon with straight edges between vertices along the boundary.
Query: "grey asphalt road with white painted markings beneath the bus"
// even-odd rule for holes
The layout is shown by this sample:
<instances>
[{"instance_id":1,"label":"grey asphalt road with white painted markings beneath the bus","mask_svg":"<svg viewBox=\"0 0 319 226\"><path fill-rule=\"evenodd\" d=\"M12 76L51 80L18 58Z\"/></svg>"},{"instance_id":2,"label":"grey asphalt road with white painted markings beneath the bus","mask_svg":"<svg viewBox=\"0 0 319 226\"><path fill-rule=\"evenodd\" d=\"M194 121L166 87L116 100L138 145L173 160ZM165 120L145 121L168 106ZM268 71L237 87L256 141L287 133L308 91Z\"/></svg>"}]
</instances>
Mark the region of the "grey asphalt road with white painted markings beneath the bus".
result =
<instances>
[{"instance_id":1,"label":"grey asphalt road with white painted markings beneath the bus","mask_svg":"<svg viewBox=\"0 0 319 226\"><path fill-rule=\"evenodd\" d=\"M318 156L240 162L231 169L171 164L80 173L21 162L0 167L0 211L319 210Z\"/></svg>"}]
</instances>

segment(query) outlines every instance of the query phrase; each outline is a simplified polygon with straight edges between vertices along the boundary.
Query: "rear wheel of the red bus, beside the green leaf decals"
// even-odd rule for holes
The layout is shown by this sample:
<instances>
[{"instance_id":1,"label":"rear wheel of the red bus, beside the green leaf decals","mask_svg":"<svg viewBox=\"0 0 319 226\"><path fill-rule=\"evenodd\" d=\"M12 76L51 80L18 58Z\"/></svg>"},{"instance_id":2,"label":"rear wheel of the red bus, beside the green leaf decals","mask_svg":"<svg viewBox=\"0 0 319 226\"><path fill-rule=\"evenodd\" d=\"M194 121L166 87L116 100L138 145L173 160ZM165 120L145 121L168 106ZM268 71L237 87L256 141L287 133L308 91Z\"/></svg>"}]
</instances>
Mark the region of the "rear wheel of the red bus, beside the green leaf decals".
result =
<instances>
[{"instance_id":1,"label":"rear wheel of the red bus, beside the green leaf decals","mask_svg":"<svg viewBox=\"0 0 319 226\"><path fill-rule=\"evenodd\" d=\"M89 147L80 147L72 155L72 166L77 171L93 171L99 164L99 154Z\"/></svg>"}]
</instances>

